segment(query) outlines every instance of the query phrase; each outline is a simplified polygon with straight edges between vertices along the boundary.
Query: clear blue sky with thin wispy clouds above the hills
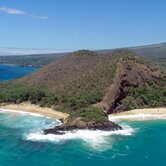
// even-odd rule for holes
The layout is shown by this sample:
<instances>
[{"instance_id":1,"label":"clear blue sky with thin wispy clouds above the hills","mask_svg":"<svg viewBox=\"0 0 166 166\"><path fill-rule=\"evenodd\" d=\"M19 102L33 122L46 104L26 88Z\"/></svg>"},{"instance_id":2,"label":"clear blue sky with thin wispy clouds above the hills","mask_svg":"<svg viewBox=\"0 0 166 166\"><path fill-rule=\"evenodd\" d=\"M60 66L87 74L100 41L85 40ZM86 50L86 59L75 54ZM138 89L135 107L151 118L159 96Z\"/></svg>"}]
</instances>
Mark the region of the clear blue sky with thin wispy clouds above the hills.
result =
<instances>
[{"instance_id":1,"label":"clear blue sky with thin wispy clouds above the hills","mask_svg":"<svg viewBox=\"0 0 166 166\"><path fill-rule=\"evenodd\" d=\"M111 49L166 42L165 0L0 0L0 47Z\"/></svg>"}]
</instances>

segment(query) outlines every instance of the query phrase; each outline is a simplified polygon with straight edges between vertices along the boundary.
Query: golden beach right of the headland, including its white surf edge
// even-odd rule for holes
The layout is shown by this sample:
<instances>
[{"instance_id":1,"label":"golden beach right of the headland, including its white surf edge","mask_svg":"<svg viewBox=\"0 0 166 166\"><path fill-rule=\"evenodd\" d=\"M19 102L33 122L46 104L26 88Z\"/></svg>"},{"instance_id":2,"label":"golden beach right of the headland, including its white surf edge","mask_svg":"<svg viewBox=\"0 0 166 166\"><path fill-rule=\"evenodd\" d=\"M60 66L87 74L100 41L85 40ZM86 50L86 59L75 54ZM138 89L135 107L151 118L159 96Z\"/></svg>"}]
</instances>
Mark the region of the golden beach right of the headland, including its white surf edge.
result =
<instances>
[{"instance_id":1,"label":"golden beach right of the headland, including its white surf edge","mask_svg":"<svg viewBox=\"0 0 166 166\"><path fill-rule=\"evenodd\" d=\"M166 120L166 108L144 108L109 115L110 121Z\"/></svg>"}]
</instances>

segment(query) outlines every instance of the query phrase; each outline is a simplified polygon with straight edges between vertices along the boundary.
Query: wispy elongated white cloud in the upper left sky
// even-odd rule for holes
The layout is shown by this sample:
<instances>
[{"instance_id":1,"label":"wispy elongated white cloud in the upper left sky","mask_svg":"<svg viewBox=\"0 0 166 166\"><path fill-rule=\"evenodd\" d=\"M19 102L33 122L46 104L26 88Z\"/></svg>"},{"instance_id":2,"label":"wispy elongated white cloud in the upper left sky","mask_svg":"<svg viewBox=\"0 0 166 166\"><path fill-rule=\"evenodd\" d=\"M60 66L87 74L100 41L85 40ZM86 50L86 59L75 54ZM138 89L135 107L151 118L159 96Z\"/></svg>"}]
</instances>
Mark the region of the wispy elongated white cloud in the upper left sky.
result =
<instances>
[{"instance_id":1,"label":"wispy elongated white cloud in the upper left sky","mask_svg":"<svg viewBox=\"0 0 166 166\"><path fill-rule=\"evenodd\" d=\"M8 14L25 15L25 16L29 16L31 18L39 19L39 20L48 19L47 16L36 16L36 15L31 14L31 13L27 13L25 11L19 10L19 9L13 9L13 8L7 8L7 7L1 7L0 6L0 11L8 13Z\"/></svg>"}]
</instances>

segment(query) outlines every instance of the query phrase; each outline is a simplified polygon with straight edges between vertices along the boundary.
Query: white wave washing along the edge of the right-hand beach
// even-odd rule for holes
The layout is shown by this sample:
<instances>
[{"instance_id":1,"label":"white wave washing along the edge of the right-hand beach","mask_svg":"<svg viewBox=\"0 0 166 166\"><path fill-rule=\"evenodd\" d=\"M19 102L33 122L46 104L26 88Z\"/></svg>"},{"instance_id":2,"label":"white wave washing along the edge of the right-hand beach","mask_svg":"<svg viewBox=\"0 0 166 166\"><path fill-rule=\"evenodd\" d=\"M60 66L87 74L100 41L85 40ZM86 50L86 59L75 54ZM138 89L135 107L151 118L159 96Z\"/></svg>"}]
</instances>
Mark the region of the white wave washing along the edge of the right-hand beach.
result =
<instances>
[{"instance_id":1,"label":"white wave washing along the edge of the right-hand beach","mask_svg":"<svg viewBox=\"0 0 166 166\"><path fill-rule=\"evenodd\" d=\"M166 114L158 115L158 114L134 114L134 115L119 115L112 116L109 115L109 120L116 122L120 120L154 120L154 119L166 119Z\"/></svg>"}]
</instances>

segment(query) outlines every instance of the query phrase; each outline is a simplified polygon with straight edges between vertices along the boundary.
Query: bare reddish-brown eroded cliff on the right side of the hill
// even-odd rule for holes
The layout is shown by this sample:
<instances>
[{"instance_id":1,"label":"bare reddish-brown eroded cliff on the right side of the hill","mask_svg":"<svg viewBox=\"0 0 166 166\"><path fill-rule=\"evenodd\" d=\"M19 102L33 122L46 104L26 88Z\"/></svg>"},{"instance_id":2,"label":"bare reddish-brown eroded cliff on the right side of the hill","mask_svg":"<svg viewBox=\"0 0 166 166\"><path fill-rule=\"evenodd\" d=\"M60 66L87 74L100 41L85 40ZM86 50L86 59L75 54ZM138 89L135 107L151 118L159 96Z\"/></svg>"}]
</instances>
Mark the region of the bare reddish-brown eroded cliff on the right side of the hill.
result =
<instances>
[{"instance_id":1,"label":"bare reddish-brown eroded cliff on the right side of the hill","mask_svg":"<svg viewBox=\"0 0 166 166\"><path fill-rule=\"evenodd\" d=\"M149 74L151 73L151 74ZM148 80L154 82L154 86L160 86L161 70L152 72L147 64L141 64L134 60L117 63L116 74L112 84L108 87L107 93L103 100L95 106L101 108L107 114L125 111L122 100L126 98L131 87L138 86L149 87Z\"/></svg>"}]
</instances>

